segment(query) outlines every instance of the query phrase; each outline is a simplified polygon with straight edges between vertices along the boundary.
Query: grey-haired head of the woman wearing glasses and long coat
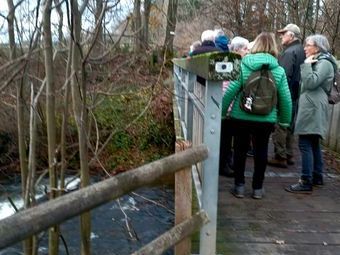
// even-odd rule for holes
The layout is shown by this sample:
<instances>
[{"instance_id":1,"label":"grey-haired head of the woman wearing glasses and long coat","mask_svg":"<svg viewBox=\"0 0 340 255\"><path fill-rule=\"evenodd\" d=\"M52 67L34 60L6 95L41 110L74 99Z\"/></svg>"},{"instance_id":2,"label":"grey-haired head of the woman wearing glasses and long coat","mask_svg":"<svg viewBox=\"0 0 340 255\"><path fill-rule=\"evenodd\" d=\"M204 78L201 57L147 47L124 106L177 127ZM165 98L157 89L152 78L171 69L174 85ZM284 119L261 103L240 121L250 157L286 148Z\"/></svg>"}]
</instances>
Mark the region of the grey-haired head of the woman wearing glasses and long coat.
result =
<instances>
[{"instance_id":1,"label":"grey-haired head of the woman wearing glasses and long coat","mask_svg":"<svg viewBox=\"0 0 340 255\"><path fill-rule=\"evenodd\" d=\"M329 42L324 35L310 35L305 40L304 46L306 57L323 52L327 53L330 50Z\"/></svg>"}]
</instances>

